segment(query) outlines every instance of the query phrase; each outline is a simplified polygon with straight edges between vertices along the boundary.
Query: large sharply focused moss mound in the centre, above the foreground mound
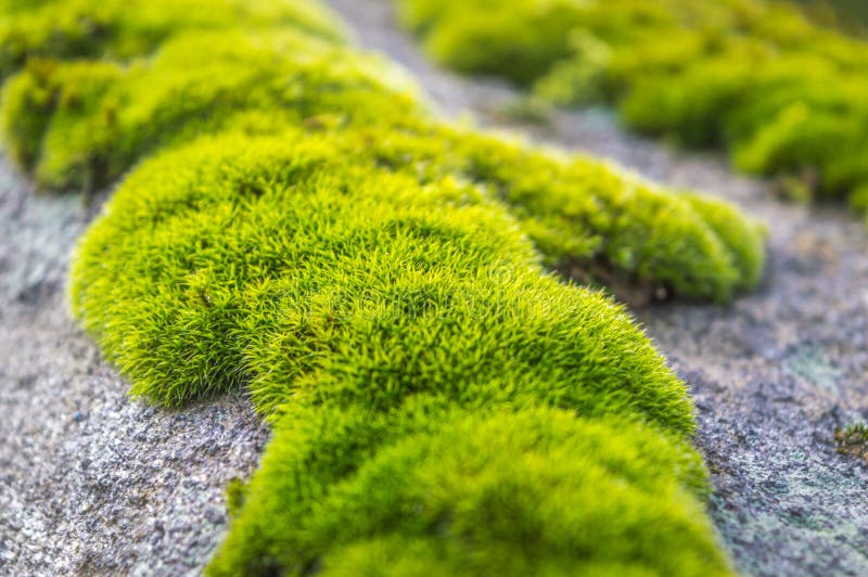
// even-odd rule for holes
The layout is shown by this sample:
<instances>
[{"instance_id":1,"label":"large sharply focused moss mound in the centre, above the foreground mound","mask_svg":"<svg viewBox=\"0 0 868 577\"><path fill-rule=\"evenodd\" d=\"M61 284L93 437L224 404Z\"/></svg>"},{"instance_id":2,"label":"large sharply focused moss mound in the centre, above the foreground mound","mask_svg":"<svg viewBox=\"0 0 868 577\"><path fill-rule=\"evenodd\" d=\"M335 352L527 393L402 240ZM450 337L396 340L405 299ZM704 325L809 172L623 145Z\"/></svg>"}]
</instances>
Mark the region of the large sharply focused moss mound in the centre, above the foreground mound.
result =
<instances>
[{"instance_id":1,"label":"large sharply focused moss mound in the centre, above the foreground mound","mask_svg":"<svg viewBox=\"0 0 868 577\"><path fill-rule=\"evenodd\" d=\"M217 138L146 162L86 233L72 291L133 390L167 405L252 381L264 410L329 387L387 408L432 372L447 396L488 379L514 402L550 379L559 406L690 426L644 337L544 275L498 203L347 162L329 136Z\"/></svg>"}]
</instances>

